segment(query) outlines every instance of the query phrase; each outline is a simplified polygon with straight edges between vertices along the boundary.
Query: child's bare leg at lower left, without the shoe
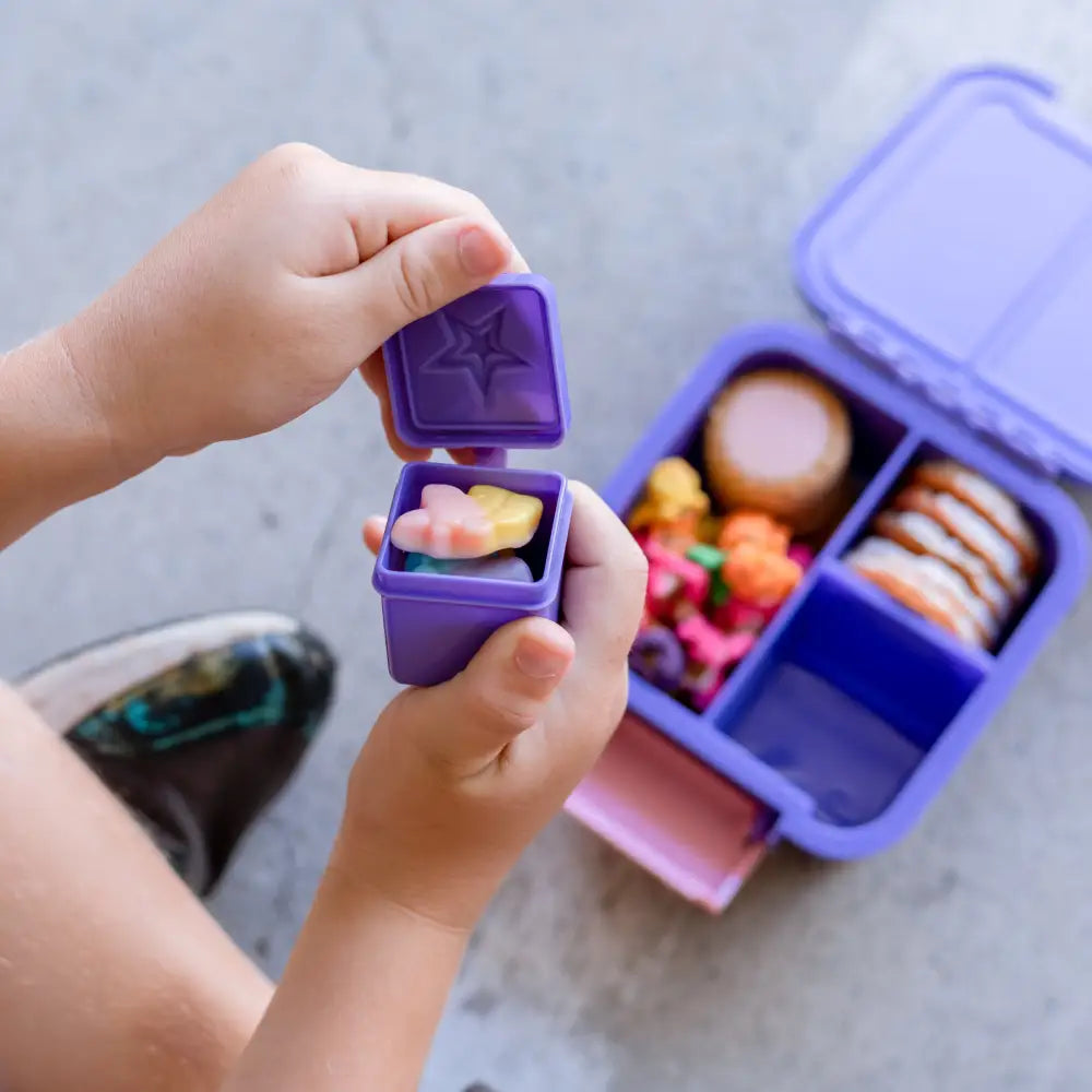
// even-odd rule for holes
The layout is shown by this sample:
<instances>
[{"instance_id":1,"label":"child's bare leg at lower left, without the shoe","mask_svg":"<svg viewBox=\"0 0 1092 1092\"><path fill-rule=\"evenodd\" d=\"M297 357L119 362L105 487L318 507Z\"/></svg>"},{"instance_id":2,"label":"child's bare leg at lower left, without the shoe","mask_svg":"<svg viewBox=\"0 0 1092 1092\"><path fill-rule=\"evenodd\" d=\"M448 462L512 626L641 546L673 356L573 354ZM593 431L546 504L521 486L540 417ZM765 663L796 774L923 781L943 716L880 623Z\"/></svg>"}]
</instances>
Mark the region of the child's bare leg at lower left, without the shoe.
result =
<instances>
[{"instance_id":1,"label":"child's bare leg at lower left, without the shoe","mask_svg":"<svg viewBox=\"0 0 1092 1092\"><path fill-rule=\"evenodd\" d=\"M269 982L5 687L0 876L0 1087L218 1088Z\"/></svg>"}]
</instances>

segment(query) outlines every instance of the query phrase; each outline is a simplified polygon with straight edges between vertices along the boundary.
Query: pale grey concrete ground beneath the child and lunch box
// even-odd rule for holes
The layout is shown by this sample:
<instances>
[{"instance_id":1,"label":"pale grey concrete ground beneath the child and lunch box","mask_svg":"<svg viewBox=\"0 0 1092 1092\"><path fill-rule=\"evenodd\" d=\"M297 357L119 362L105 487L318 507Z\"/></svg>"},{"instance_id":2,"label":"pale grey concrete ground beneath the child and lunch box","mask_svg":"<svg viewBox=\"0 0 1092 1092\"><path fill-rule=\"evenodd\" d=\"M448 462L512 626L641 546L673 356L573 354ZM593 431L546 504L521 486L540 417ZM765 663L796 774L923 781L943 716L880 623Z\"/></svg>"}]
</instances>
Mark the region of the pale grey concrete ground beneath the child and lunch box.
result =
<instances>
[{"instance_id":1,"label":"pale grey concrete ground beneath the child and lunch box","mask_svg":"<svg viewBox=\"0 0 1092 1092\"><path fill-rule=\"evenodd\" d=\"M93 296L253 155L309 140L489 201L558 286L571 366L571 440L523 462L598 483L722 331L803 318L793 232L910 96L1002 59L1092 117L1090 33L1077 0L9 0L0 343ZM334 642L337 713L213 905L274 973L393 692L357 536L394 475L352 383L62 513L0 565L4 670L250 604ZM1090 639L1085 598L899 847L845 867L781 853L723 918L558 820L476 937L427 1092L1088 1087Z\"/></svg>"}]
</instances>

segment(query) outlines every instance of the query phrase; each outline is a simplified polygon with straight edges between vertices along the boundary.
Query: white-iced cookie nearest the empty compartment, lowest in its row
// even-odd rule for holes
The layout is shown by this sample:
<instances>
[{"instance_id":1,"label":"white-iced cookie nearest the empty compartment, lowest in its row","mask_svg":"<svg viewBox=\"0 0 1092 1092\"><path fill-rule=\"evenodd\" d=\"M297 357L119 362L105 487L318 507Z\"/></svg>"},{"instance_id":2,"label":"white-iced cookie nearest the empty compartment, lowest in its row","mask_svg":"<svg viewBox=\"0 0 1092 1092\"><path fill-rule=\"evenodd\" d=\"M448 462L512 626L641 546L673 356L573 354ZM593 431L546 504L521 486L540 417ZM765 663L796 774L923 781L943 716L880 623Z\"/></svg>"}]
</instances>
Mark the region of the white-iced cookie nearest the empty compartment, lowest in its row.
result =
<instances>
[{"instance_id":1,"label":"white-iced cookie nearest the empty compartment, lowest in its row","mask_svg":"<svg viewBox=\"0 0 1092 1092\"><path fill-rule=\"evenodd\" d=\"M846 565L915 614L970 644L993 640L996 622L954 570L942 561L913 554L887 538L866 538Z\"/></svg>"}]
</instances>

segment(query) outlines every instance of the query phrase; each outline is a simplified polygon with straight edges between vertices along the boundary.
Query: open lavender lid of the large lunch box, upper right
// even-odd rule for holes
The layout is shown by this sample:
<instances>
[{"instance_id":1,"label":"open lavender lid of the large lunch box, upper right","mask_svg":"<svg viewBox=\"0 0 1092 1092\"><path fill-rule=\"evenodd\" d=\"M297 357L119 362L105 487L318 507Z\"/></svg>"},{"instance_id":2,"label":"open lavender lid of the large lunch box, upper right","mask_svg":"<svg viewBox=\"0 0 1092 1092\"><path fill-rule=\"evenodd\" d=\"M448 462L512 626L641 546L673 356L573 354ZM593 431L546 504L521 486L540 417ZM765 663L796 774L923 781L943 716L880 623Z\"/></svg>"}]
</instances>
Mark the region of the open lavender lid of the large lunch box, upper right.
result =
<instances>
[{"instance_id":1,"label":"open lavender lid of the large lunch box, upper right","mask_svg":"<svg viewBox=\"0 0 1092 1092\"><path fill-rule=\"evenodd\" d=\"M1092 482L1092 141L1041 80L941 81L796 242L839 335L1051 474Z\"/></svg>"}]
</instances>

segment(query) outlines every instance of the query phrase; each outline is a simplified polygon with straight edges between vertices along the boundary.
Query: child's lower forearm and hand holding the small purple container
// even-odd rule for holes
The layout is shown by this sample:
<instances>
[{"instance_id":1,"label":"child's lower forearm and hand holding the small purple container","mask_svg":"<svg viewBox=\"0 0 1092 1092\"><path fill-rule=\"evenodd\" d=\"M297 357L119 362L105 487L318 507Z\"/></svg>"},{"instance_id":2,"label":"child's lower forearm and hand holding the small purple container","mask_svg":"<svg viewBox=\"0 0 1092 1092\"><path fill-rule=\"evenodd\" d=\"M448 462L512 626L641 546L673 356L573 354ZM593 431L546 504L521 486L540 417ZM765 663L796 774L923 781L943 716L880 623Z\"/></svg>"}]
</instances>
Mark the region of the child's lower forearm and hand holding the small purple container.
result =
<instances>
[{"instance_id":1,"label":"child's lower forearm and hand holding the small purple container","mask_svg":"<svg viewBox=\"0 0 1092 1092\"><path fill-rule=\"evenodd\" d=\"M573 494L566 628L515 622L465 673L382 714L311 914L225 1092L416 1088L470 930L625 708L644 558L594 494ZM381 521L366 529L372 548L380 535Z\"/></svg>"}]
</instances>

